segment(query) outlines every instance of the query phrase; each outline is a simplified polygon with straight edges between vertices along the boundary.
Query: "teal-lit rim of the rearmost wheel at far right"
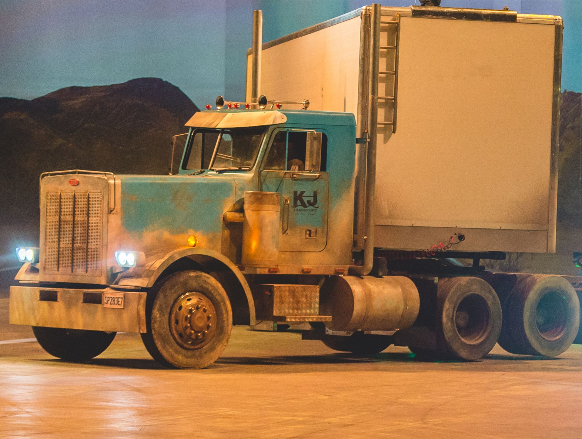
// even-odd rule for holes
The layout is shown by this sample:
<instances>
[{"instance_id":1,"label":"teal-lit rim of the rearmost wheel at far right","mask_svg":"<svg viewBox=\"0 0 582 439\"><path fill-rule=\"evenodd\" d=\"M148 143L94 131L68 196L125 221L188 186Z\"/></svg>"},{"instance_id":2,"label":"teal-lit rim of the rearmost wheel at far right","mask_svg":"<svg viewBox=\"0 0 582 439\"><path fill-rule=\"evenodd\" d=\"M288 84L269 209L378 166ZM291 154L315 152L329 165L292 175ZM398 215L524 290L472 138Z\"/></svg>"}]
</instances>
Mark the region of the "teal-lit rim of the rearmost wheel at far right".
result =
<instances>
[{"instance_id":1,"label":"teal-lit rim of the rearmost wheel at far right","mask_svg":"<svg viewBox=\"0 0 582 439\"><path fill-rule=\"evenodd\" d=\"M564 335L568 323L566 299L552 291L542 296L535 309L535 325L540 335L548 341Z\"/></svg>"}]
</instances>

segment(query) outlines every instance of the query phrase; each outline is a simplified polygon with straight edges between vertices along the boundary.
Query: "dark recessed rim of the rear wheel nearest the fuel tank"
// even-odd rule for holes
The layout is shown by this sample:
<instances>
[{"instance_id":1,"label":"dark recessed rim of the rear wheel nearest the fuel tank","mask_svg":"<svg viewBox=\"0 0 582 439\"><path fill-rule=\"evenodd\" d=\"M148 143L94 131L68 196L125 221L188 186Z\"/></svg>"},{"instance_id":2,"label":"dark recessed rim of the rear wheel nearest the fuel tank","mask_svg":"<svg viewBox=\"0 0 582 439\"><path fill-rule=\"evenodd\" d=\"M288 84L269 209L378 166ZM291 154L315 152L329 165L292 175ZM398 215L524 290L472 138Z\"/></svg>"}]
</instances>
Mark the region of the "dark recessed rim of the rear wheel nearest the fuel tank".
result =
<instances>
[{"instance_id":1,"label":"dark recessed rim of the rear wheel nearest the fuel tank","mask_svg":"<svg viewBox=\"0 0 582 439\"><path fill-rule=\"evenodd\" d=\"M487 300L478 294L467 295L455 312L455 327L459 337L470 345L480 343L487 337L490 318Z\"/></svg>"}]
</instances>

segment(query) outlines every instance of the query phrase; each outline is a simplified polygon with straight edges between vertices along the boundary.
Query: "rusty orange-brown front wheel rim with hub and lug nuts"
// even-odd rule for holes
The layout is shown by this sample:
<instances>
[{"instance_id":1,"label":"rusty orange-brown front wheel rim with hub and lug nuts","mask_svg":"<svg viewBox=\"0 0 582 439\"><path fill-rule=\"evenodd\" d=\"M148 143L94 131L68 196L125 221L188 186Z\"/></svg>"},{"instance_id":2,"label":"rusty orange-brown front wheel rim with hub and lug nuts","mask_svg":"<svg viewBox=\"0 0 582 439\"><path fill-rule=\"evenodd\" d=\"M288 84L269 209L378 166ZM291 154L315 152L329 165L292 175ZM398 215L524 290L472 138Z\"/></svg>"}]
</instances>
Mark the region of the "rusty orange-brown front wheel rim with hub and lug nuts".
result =
<instances>
[{"instance_id":1,"label":"rusty orange-brown front wheel rim with hub and lug nuts","mask_svg":"<svg viewBox=\"0 0 582 439\"><path fill-rule=\"evenodd\" d=\"M203 293L187 292L172 305L170 331L184 349L200 349L207 345L217 327L216 309Z\"/></svg>"}]
</instances>

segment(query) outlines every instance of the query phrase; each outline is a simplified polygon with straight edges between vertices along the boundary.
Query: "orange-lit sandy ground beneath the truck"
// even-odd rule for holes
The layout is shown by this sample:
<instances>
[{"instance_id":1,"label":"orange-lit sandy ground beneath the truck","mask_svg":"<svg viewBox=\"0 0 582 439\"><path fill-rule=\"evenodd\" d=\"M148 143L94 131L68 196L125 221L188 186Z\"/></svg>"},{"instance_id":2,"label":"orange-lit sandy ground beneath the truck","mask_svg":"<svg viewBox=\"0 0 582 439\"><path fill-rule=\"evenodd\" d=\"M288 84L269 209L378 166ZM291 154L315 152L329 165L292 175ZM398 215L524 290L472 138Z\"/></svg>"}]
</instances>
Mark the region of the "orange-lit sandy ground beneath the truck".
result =
<instances>
[{"instance_id":1,"label":"orange-lit sandy ground beneath the truck","mask_svg":"<svg viewBox=\"0 0 582 439\"><path fill-rule=\"evenodd\" d=\"M422 362L235 327L208 369L164 370L136 334L85 364L32 337L0 299L0 437L582 437L580 345L556 359L496 346L479 362Z\"/></svg>"}]
</instances>

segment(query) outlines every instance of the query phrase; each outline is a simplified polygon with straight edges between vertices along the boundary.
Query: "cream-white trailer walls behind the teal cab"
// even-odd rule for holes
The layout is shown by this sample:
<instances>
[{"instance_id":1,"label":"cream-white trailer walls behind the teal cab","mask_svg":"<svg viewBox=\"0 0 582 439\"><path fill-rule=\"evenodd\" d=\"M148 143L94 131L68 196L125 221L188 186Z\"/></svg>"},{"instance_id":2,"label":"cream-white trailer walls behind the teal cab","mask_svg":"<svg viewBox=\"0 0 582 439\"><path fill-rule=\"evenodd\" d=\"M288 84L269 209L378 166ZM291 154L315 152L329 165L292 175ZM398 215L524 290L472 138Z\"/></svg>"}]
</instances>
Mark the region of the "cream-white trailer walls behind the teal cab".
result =
<instances>
[{"instance_id":1,"label":"cream-white trailer walls behind the teal cab","mask_svg":"<svg viewBox=\"0 0 582 439\"><path fill-rule=\"evenodd\" d=\"M382 19L395 12L382 8ZM378 128L375 246L422 249L456 232L466 235L457 250L554 252L553 17L405 15L397 129ZM382 45L393 44L387 27ZM265 46L260 92L356 114L360 17L296 36ZM382 51L380 61L380 70L393 67ZM249 84L247 75L247 97ZM392 94L382 77L379 94ZM391 102L382 105L378 121L391 113Z\"/></svg>"}]
</instances>

